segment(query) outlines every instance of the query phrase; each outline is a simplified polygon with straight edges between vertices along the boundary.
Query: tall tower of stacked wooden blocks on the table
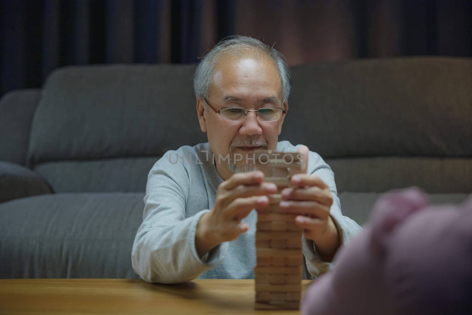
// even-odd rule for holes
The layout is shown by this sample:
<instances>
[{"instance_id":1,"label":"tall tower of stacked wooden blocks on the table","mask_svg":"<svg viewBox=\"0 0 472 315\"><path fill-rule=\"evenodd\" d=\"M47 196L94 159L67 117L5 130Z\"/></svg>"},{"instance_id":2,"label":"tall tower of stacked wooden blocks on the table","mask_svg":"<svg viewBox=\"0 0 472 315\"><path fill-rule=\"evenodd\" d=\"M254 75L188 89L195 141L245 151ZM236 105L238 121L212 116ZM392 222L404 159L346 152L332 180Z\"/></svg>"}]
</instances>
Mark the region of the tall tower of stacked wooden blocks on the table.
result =
<instances>
[{"instance_id":1,"label":"tall tower of stacked wooden blocks on the table","mask_svg":"<svg viewBox=\"0 0 472 315\"><path fill-rule=\"evenodd\" d=\"M296 214L281 213L279 203L281 190L290 186L290 177L302 172L301 158L300 153L261 151L255 154L255 164L264 173L264 181L278 188L278 194L269 196L266 212L259 212L257 217L256 309L299 308L302 231L295 225Z\"/></svg>"}]
</instances>

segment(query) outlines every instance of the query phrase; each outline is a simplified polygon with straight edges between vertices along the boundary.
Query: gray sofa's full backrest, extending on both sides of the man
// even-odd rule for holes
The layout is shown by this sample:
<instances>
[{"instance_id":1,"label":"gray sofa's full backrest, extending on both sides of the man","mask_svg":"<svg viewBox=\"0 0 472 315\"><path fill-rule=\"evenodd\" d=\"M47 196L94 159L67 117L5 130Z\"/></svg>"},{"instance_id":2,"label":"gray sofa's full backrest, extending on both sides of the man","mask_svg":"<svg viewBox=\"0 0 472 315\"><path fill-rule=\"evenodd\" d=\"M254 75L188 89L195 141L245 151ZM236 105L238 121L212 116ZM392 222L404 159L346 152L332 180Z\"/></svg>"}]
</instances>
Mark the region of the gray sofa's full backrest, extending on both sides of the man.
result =
<instances>
[{"instance_id":1,"label":"gray sofa's full backrest, extending on both sides of the man","mask_svg":"<svg viewBox=\"0 0 472 315\"><path fill-rule=\"evenodd\" d=\"M194 65L67 67L36 109L28 163L56 192L143 191L167 150L206 141ZM472 191L472 60L356 60L292 68L279 140L303 143L339 191Z\"/></svg>"}]
</instances>

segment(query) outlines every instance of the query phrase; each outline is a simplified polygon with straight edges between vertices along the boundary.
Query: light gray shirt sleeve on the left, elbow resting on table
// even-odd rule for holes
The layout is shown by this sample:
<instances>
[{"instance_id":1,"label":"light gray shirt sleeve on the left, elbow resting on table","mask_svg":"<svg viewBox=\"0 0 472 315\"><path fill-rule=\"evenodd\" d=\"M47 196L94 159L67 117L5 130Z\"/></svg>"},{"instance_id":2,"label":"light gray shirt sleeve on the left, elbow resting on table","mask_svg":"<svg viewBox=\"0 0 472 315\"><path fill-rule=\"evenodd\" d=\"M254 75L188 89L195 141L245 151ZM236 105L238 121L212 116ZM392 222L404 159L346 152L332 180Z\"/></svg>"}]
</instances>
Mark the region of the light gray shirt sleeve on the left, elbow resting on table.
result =
<instances>
[{"instance_id":1,"label":"light gray shirt sleeve on the left, elbow resting on table","mask_svg":"<svg viewBox=\"0 0 472 315\"><path fill-rule=\"evenodd\" d=\"M196 227L200 217L210 210L185 217L190 175L184 163L171 164L165 156L148 175L143 223L136 233L131 260L144 281L179 283L220 264L228 243L221 243L203 257L197 255Z\"/></svg>"}]
</instances>

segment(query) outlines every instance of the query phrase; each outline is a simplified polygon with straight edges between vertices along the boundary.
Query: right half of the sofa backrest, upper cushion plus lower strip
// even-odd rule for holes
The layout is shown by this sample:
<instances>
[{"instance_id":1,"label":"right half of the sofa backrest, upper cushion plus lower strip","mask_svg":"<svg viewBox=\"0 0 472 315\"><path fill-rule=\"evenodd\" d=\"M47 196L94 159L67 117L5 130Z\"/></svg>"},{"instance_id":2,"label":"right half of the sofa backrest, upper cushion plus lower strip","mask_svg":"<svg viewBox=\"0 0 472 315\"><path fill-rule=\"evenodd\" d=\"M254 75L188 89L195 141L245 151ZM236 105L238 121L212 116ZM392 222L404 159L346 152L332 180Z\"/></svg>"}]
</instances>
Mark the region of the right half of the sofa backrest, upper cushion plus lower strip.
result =
<instances>
[{"instance_id":1,"label":"right half of the sofa backrest, upper cushion plus lower strip","mask_svg":"<svg viewBox=\"0 0 472 315\"><path fill-rule=\"evenodd\" d=\"M472 59L296 67L292 85L283 136L320 153L339 191L472 191Z\"/></svg>"}]
</instances>

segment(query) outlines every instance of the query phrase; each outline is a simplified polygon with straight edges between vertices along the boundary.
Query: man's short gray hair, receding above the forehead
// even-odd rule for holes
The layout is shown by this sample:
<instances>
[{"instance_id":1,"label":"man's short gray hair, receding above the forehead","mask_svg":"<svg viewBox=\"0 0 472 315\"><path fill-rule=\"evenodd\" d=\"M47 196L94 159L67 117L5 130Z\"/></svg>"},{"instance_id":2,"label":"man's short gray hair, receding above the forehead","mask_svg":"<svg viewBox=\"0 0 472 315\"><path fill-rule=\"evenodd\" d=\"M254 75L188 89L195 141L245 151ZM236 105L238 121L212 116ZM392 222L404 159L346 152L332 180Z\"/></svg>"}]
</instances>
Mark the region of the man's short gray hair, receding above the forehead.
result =
<instances>
[{"instance_id":1,"label":"man's short gray hair, receding above the forehead","mask_svg":"<svg viewBox=\"0 0 472 315\"><path fill-rule=\"evenodd\" d=\"M290 94L290 68L288 68L284 55L260 40L246 35L235 35L222 39L202 58L194 74L195 96L208 98L208 90L220 57L228 54L238 55L244 51L255 53L258 58L262 57L261 53L270 57L280 77L283 102L287 101Z\"/></svg>"}]
</instances>

